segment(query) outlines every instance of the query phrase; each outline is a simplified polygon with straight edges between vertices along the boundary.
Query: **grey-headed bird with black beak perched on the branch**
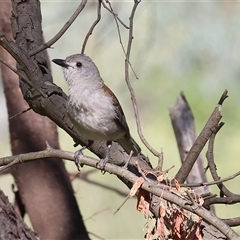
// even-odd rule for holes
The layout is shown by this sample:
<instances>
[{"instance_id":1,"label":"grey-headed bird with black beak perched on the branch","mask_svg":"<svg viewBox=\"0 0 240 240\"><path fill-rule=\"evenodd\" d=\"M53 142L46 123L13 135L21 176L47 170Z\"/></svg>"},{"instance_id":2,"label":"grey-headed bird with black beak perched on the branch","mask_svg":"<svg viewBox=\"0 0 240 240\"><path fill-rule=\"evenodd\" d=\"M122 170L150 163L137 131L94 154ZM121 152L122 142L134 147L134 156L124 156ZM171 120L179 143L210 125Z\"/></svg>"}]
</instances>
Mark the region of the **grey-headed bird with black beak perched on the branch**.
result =
<instances>
[{"instance_id":1,"label":"grey-headed bird with black beak perched on the branch","mask_svg":"<svg viewBox=\"0 0 240 240\"><path fill-rule=\"evenodd\" d=\"M128 154L133 151L133 156L137 156L141 148L130 135L122 107L104 84L92 59L85 54L74 54L52 61L62 67L68 84L67 114L77 131L88 140L88 144L75 153L76 165L80 166L79 154L94 141L107 144L106 156L99 161L102 168L109 160L112 141L117 141Z\"/></svg>"}]
</instances>

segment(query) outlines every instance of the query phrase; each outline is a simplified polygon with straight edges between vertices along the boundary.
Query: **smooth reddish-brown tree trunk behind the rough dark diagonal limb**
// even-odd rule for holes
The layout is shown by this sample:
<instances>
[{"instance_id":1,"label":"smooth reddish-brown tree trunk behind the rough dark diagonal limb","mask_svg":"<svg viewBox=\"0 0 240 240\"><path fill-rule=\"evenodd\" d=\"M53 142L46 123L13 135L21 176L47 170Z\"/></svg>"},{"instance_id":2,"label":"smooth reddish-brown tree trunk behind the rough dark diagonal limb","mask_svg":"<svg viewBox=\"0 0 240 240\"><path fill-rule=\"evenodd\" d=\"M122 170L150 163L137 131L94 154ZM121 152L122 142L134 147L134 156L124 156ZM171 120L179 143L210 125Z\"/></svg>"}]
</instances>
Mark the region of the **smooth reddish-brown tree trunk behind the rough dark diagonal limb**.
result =
<instances>
[{"instance_id":1,"label":"smooth reddish-brown tree trunk behind the rough dark diagonal limb","mask_svg":"<svg viewBox=\"0 0 240 240\"><path fill-rule=\"evenodd\" d=\"M0 29L11 37L11 2L0 4ZM42 54L47 59L46 53ZM15 60L2 48L0 57L11 66L16 65ZM1 70L8 115L13 116L27 109L28 104L19 88L18 76L5 66L1 66ZM9 128L14 155L45 149L45 141L59 148L56 125L33 111L10 120ZM12 167L11 172L33 228L40 237L89 239L62 160L50 158L18 165Z\"/></svg>"}]
</instances>

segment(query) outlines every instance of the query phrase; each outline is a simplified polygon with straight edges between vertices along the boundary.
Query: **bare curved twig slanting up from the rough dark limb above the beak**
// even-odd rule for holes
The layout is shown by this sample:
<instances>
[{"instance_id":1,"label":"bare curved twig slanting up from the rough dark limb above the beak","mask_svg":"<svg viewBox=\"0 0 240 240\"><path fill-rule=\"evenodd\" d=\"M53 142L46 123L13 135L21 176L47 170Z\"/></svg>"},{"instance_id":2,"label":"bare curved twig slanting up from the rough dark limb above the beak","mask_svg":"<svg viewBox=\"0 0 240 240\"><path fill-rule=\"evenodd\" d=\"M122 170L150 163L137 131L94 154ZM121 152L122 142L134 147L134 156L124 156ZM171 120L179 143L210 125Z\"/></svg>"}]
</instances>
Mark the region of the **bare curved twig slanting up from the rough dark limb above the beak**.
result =
<instances>
[{"instance_id":1,"label":"bare curved twig slanting up from the rough dark limb above the beak","mask_svg":"<svg viewBox=\"0 0 240 240\"><path fill-rule=\"evenodd\" d=\"M73 15L69 18L69 20L65 23L65 25L62 27L62 29L48 42L44 43L43 45L39 46L37 49L34 49L29 53L29 56L36 55L37 53L51 47L72 25L72 23L75 21L75 19L78 17L80 12L83 10L87 3L87 0L82 0L76 11L73 13Z\"/></svg>"}]
</instances>

